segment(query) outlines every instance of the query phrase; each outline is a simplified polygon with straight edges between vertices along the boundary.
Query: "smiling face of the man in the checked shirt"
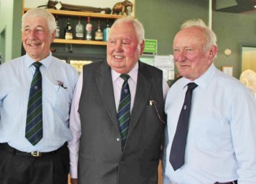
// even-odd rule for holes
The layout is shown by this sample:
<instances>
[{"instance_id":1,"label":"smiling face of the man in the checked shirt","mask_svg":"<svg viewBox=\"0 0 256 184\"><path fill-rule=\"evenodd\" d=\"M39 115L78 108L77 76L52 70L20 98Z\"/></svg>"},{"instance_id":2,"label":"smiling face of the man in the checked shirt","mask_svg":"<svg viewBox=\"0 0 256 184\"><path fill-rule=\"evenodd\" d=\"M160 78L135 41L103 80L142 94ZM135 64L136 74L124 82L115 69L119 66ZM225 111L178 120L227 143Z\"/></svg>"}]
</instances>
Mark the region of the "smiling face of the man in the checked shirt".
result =
<instances>
[{"instance_id":1,"label":"smiling face of the man in the checked shirt","mask_svg":"<svg viewBox=\"0 0 256 184\"><path fill-rule=\"evenodd\" d=\"M50 43L54 42L55 31L50 33L46 20L41 17L27 17L22 30L24 50L35 61L41 61L50 53Z\"/></svg>"}]
</instances>

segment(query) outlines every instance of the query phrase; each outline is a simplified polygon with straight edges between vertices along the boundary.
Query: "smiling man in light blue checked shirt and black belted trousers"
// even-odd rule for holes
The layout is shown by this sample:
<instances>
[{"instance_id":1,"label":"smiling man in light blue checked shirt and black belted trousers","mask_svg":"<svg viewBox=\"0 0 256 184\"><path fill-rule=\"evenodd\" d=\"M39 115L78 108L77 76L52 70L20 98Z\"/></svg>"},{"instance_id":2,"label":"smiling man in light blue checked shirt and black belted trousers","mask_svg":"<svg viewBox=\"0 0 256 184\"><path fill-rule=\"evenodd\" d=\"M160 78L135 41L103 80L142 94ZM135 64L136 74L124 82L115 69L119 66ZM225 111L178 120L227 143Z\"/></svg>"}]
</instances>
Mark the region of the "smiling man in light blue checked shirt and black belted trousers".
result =
<instances>
[{"instance_id":1,"label":"smiling man in light blue checked shirt and black belted trousers","mask_svg":"<svg viewBox=\"0 0 256 184\"><path fill-rule=\"evenodd\" d=\"M30 9L22 17L26 55L0 66L1 183L68 183L69 109L78 73L50 53L55 19L46 9ZM43 138L35 145L25 138L28 96L40 62Z\"/></svg>"}]
</instances>

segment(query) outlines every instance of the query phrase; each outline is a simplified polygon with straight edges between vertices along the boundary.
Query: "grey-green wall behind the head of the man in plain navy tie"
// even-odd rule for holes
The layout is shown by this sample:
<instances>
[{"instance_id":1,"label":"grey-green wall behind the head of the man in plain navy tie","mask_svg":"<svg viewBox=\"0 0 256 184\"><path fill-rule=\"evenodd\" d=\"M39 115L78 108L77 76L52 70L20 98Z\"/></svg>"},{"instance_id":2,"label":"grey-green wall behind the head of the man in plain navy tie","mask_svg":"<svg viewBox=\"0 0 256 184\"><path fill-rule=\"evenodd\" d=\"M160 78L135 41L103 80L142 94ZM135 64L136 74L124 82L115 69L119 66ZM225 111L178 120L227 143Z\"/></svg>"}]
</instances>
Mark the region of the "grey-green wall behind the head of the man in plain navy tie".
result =
<instances>
[{"instance_id":1,"label":"grey-green wall behind the head of the man in plain navy tie","mask_svg":"<svg viewBox=\"0 0 256 184\"><path fill-rule=\"evenodd\" d=\"M136 17L146 29L147 39L158 39L158 54L173 54L173 38L184 20L201 18L208 23L208 2L202 0L147 0L136 1ZM143 9L143 11L139 11ZM213 31L217 35L219 50L214 64L221 69L232 65L233 76L241 73L241 46L255 46L255 13L221 13L213 11ZM225 49L232 50L230 56Z\"/></svg>"}]
</instances>

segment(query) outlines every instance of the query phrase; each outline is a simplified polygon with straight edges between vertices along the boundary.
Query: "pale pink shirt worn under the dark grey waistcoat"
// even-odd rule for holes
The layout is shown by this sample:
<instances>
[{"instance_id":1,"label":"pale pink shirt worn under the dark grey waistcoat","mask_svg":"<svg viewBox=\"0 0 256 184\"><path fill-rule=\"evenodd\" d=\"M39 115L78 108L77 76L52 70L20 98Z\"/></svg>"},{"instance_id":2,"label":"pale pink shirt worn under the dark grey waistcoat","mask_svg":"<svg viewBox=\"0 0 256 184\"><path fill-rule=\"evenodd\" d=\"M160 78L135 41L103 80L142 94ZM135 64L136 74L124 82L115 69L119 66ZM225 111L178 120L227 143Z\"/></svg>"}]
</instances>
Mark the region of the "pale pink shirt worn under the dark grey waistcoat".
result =
<instances>
[{"instance_id":1,"label":"pale pink shirt worn under the dark grey waistcoat","mask_svg":"<svg viewBox=\"0 0 256 184\"><path fill-rule=\"evenodd\" d=\"M128 73L130 78L128 79L128 84L131 92L131 112L134 105L135 92L137 86L137 77L138 77L139 64L135 64L135 67L132 68L132 71ZM113 93L115 98L116 108L118 109L120 97L121 97L121 88L124 83L124 79L120 77L120 73L115 72L111 69L112 81L113 81ZM80 126L80 115L78 112L80 95L83 86L83 72L81 72L78 82L76 84L76 89L74 92L74 97L72 100L71 115L70 115L70 129L72 131L72 142L69 142L70 150L70 175L71 178L77 178L77 164L78 164L78 151L79 151L79 142L81 136L81 126ZM163 78L163 95L164 98L168 93L169 86Z\"/></svg>"}]
</instances>

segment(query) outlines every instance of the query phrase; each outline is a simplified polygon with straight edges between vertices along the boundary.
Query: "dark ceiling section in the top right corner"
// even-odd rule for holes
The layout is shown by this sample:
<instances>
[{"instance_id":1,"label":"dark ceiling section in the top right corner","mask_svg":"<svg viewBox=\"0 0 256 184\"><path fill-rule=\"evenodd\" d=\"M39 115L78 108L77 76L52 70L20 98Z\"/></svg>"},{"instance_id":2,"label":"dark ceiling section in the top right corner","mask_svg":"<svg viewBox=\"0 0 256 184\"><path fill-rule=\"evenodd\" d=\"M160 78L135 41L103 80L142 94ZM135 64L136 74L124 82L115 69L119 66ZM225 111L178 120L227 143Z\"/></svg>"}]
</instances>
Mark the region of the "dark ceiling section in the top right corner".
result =
<instances>
[{"instance_id":1,"label":"dark ceiling section in the top right corner","mask_svg":"<svg viewBox=\"0 0 256 184\"><path fill-rule=\"evenodd\" d=\"M213 9L226 13L256 12L254 6L256 0L213 0Z\"/></svg>"}]
</instances>

